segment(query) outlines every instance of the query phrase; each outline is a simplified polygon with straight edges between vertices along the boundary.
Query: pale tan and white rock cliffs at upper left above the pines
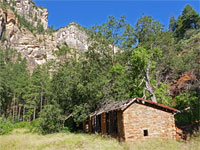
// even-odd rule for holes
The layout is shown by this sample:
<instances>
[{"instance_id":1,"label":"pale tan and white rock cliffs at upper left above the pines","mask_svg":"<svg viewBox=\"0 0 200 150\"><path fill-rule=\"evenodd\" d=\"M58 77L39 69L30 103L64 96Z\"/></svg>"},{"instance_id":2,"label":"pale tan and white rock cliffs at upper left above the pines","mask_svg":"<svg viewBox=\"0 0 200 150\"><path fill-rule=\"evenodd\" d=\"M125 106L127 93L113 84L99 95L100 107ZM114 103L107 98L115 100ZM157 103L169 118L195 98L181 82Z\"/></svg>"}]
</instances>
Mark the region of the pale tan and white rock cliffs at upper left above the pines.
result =
<instances>
[{"instance_id":1,"label":"pale tan and white rock cliffs at upper left above the pines","mask_svg":"<svg viewBox=\"0 0 200 150\"><path fill-rule=\"evenodd\" d=\"M32 11L36 10L36 6L29 0L15 0L15 2L17 14L24 16L27 21L31 22L29 15L31 12L33 14L36 12ZM9 5L12 6L13 4L9 2ZM48 22L45 19L47 19L48 12L46 9L37 8L37 12L40 10L43 10L43 25L44 28L47 28ZM26 57L30 70L33 70L37 64L41 65L48 60L55 59L56 56L53 51L58 50L63 44L67 44L70 48L78 51L86 51L88 48L88 36L83 30L80 30L76 23L71 23L51 34L47 32L36 33L23 26L15 14L10 7L0 8L1 45L16 49L23 57Z\"/></svg>"}]
</instances>

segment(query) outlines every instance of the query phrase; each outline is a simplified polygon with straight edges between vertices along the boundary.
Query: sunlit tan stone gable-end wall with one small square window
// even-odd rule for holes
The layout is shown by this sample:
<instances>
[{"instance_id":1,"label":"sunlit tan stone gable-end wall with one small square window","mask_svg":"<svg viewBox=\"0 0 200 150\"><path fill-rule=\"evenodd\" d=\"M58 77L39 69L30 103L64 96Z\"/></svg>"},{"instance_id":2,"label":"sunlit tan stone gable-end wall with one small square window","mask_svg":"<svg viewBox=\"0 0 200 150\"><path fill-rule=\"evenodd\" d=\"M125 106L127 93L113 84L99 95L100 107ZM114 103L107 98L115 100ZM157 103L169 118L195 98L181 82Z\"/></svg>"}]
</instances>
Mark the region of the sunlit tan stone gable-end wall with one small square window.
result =
<instances>
[{"instance_id":1,"label":"sunlit tan stone gable-end wall with one small square window","mask_svg":"<svg viewBox=\"0 0 200 150\"><path fill-rule=\"evenodd\" d=\"M126 142L176 138L174 116L170 112L134 103L124 111L123 118ZM144 132L148 132L147 136L144 136Z\"/></svg>"}]
</instances>

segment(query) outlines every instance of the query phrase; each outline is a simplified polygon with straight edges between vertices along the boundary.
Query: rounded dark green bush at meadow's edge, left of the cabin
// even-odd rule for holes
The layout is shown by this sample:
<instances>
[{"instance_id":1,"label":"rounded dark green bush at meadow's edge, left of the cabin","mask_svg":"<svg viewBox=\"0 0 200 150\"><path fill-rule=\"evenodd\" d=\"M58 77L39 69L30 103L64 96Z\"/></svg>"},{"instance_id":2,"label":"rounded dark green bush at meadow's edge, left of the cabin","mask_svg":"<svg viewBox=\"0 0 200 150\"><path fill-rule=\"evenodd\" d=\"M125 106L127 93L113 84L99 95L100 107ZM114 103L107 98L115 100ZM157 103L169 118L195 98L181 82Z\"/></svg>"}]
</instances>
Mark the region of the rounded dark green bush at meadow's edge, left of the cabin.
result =
<instances>
[{"instance_id":1,"label":"rounded dark green bush at meadow's edge, left of the cabin","mask_svg":"<svg viewBox=\"0 0 200 150\"><path fill-rule=\"evenodd\" d=\"M46 105L40 112L38 131L42 134L59 132L62 129L61 110L57 104Z\"/></svg>"}]
</instances>

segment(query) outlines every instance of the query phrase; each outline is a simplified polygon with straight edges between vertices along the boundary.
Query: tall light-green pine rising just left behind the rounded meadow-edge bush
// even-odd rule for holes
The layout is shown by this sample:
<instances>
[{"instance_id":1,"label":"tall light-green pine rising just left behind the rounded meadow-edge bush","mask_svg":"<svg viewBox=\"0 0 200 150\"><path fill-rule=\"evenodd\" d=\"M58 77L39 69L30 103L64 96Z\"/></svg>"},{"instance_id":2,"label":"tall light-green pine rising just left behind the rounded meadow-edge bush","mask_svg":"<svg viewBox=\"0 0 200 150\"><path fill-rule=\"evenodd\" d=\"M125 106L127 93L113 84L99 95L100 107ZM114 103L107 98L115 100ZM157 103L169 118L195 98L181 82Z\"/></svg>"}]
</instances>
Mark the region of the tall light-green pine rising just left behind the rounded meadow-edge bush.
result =
<instances>
[{"instance_id":1,"label":"tall light-green pine rising just left behind the rounded meadow-edge bush","mask_svg":"<svg viewBox=\"0 0 200 150\"><path fill-rule=\"evenodd\" d=\"M45 65L37 66L29 77L26 92L23 95L29 120L35 120L37 112L42 111L43 105L48 104L48 100L52 97L49 78L48 68Z\"/></svg>"}]
</instances>

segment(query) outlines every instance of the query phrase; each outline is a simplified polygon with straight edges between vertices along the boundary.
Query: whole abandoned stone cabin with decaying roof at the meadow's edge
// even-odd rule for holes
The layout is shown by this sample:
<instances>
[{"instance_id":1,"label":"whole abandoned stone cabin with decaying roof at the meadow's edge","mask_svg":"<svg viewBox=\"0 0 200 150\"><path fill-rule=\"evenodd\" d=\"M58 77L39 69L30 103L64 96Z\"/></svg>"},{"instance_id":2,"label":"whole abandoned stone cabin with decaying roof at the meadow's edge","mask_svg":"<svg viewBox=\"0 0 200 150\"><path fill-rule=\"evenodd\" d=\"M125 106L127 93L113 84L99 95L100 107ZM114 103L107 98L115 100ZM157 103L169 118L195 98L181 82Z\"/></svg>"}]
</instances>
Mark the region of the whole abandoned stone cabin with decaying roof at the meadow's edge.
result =
<instances>
[{"instance_id":1,"label":"whole abandoned stone cabin with decaying roof at the meadow's edge","mask_svg":"<svg viewBox=\"0 0 200 150\"><path fill-rule=\"evenodd\" d=\"M152 138L176 139L176 112L174 108L137 97L105 105L83 122L83 129L132 143Z\"/></svg>"}]
</instances>

